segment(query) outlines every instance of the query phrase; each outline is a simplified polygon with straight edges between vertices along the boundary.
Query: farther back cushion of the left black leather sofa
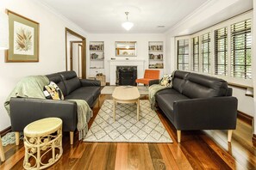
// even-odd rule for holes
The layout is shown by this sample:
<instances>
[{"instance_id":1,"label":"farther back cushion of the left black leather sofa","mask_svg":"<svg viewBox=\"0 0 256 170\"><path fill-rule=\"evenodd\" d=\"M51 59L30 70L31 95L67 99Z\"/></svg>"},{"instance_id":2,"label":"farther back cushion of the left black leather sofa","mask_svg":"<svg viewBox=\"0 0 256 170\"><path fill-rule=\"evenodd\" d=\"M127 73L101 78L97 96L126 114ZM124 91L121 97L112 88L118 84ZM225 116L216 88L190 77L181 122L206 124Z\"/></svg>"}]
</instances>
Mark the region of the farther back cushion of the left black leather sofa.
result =
<instances>
[{"instance_id":1,"label":"farther back cushion of the left black leather sofa","mask_svg":"<svg viewBox=\"0 0 256 170\"><path fill-rule=\"evenodd\" d=\"M81 87L81 82L78 79L77 73L75 71L63 71L59 72L62 77L63 82L66 86L66 94L71 94L72 91Z\"/></svg>"}]
</instances>

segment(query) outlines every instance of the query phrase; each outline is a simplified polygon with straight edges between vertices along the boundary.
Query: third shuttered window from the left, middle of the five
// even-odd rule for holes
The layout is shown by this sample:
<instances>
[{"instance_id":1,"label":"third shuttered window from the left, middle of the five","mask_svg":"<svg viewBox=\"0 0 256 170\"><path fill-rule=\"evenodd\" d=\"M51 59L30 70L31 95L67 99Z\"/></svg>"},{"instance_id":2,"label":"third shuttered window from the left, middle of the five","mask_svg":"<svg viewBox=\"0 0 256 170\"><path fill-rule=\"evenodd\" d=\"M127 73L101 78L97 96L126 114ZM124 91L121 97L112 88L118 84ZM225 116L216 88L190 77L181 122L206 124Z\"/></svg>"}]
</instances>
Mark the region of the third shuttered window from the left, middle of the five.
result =
<instances>
[{"instance_id":1,"label":"third shuttered window from the left, middle of the five","mask_svg":"<svg viewBox=\"0 0 256 170\"><path fill-rule=\"evenodd\" d=\"M210 71L210 33L201 36L203 73Z\"/></svg>"}]
</instances>

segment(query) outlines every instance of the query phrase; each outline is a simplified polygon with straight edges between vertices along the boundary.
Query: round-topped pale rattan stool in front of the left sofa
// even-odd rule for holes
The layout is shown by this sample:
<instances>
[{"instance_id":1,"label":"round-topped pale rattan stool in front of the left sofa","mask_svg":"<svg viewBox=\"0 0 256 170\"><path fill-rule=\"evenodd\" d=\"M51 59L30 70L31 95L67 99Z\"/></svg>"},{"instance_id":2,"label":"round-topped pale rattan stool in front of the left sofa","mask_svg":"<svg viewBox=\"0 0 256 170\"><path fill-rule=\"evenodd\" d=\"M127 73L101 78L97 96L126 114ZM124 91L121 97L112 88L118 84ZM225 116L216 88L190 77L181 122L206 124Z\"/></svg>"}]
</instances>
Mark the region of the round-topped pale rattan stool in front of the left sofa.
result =
<instances>
[{"instance_id":1,"label":"round-topped pale rattan stool in front of the left sofa","mask_svg":"<svg viewBox=\"0 0 256 170\"><path fill-rule=\"evenodd\" d=\"M62 155L62 120L43 118L28 124L24 129L25 169L44 169Z\"/></svg>"}]
</instances>

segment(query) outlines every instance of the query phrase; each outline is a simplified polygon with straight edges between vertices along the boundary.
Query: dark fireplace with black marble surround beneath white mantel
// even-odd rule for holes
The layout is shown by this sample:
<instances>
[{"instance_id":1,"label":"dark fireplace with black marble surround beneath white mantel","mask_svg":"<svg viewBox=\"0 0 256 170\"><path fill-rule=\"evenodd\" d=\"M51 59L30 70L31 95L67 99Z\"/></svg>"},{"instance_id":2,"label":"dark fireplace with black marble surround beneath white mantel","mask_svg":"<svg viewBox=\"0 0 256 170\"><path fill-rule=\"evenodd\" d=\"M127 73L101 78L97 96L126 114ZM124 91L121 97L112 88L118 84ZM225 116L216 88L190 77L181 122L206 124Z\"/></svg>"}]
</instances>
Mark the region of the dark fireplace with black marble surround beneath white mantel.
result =
<instances>
[{"instance_id":1,"label":"dark fireplace with black marble surround beneath white mantel","mask_svg":"<svg viewBox=\"0 0 256 170\"><path fill-rule=\"evenodd\" d=\"M117 86L136 86L137 66L116 66Z\"/></svg>"}]
</instances>

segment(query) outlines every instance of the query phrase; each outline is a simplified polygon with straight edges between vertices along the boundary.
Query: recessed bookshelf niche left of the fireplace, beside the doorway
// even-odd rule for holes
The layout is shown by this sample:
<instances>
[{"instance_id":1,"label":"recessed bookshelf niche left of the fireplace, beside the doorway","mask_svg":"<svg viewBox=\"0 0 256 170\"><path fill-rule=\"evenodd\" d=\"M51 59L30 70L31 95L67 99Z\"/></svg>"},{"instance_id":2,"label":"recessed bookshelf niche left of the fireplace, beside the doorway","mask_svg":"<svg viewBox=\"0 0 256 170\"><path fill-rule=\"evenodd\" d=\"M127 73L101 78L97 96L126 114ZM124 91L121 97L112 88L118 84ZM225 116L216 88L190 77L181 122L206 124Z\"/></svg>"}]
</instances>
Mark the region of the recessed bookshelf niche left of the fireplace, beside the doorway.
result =
<instances>
[{"instance_id":1,"label":"recessed bookshelf niche left of the fireplace, beside the doorway","mask_svg":"<svg viewBox=\"0 0 256 170\"><path fill-rule=\"evenodd\" d=\"M104 42L90 42L90 69L104 68Z\"/></svg>"}]
</instances>

